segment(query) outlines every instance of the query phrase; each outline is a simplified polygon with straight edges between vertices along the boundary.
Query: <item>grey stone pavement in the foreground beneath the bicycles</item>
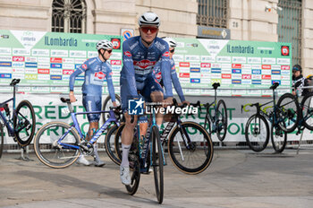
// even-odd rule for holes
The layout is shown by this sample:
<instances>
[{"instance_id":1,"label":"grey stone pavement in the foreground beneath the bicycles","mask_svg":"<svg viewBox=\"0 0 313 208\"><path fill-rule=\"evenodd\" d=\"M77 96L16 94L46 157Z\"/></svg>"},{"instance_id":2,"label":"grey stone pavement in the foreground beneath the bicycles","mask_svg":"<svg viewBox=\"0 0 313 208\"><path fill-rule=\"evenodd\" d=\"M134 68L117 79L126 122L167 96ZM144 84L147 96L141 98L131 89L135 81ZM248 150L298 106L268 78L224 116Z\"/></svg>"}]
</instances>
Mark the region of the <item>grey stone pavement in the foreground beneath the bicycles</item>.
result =
<instances>
[{"instance_id":1,"label":"grey stone pavement in the foreground beneath the bicycles","mask_svg":"<svg viewBox=\"0 0 313 208\"><path fill-rule=\"evenodd\" d=\"M0 206L4 207L313 207L313 150L216 150L196 176L165 167L165 199L157 204L153 175L142 176L136 195L126 194L119 168L102 153L104 168L73 164L51 169L32 161L0 159ZM91 158L89 158L90 160Z\"/></svg>"}]
</instances>

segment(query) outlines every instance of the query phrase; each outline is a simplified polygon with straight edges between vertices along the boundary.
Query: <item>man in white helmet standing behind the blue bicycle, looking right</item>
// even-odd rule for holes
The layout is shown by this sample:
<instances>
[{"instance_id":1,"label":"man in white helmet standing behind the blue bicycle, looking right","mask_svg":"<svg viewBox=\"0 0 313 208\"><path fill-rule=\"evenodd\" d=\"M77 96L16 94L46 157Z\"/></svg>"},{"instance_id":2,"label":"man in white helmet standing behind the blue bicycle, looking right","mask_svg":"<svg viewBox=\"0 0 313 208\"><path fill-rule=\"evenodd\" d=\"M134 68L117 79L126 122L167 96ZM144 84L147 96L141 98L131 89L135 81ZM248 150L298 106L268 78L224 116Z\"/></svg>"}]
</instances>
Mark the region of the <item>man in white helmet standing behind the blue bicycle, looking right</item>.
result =
<instances>
[{"instance_id":1,"label":"man in white helmet standing behind the blue bicycle, looking right","mask_svg":"<svg viewBox=\"0 0 313 208\"><path fill-rule=\"evenodd\" d=\"M82 85L82 105L87 111L100 111L102 106L102 86L106 78L107 87L114 107L116 107L114 86L112 82L112 68L108 64L107 59L112 55L113 44L107 39L103 39L97 42L97 57L90 58L80 65L73 74L70 76L70 100L75 102L74 96L74 83L75 78L85 73L85 80ZM89 120L89 132L86 136L87 140L92 138L92 135L98 129L98 122L100 114L87 114ZM105 162L100 160L97 154L97 143L94 144L94 164L97 167L105 165ZM90 165L88 160L83 156L80 156L79 163L84 165Z\"/></svg>"}]
</instances>

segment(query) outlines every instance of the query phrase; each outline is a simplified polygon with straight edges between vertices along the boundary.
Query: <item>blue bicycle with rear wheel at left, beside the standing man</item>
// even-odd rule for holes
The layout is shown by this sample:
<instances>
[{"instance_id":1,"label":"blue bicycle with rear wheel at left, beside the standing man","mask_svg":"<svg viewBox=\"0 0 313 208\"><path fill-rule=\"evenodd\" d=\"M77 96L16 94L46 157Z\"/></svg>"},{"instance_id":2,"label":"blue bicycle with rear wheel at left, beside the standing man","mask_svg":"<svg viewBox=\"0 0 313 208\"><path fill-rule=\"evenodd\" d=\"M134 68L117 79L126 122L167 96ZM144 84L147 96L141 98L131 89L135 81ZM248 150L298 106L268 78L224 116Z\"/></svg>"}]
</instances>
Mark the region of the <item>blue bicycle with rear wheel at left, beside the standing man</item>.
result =
<instances>
[{"instance_id":1,"label":"blue bicycle with rear wheel at left, beside the standing man","mask_svg":"<svg viewBox=\"0 0 313 208\"><path fill-rule=\"evenodd\" d=\"M34 139L34 147L38 159L45 165L55 169L62 169L72 165L80 157L80 152L85 155L92 155L94 144L104 134L106 128L111 123L115 126L120 125L119 119L121 114L120 107L110 108L109 111L75 113L69 99L61 98L61 100L70 109L73 121L72 126L59 121L49 122L38 130ZM85 135L81 132L76 116L91 113L109 113L110 117L97 130L90 141L87 141L85 140ZM110 149L110 147L107 148Z\"/></svg>"}]
</instances>

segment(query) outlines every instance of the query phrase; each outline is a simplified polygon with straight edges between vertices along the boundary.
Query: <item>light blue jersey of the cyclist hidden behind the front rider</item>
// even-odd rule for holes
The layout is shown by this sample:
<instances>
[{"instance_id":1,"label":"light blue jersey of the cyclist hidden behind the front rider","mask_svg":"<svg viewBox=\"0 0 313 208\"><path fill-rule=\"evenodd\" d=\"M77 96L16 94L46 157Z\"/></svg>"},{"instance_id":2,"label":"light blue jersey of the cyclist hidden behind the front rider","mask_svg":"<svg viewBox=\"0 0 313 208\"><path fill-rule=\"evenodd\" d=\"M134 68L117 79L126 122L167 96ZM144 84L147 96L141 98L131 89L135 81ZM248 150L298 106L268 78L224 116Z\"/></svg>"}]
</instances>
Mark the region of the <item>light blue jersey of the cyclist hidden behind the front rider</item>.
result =
<instances>
[{"instance_id":1,"label":"light blue jersey of the cyclist hidden behind the front rider","mask_svg":"<svg viewBox=\"0 0 313 208\"><path fill-rule=\"evenodd\" d=\"M170 59L171 64L171 80L173 82L173 87L175 88L175 91L177 92L178 96L180 97L181 101L185 100L185 97L182 93L182 86L181 82L179 81L177 74L176 74L176 68L175 68L175 62L173 61L173 58ZM161 63L157 62L154 68L154 74L156 76L157 82L162 81L162 74L161 74Z\"/></svg>"}]
</instances>

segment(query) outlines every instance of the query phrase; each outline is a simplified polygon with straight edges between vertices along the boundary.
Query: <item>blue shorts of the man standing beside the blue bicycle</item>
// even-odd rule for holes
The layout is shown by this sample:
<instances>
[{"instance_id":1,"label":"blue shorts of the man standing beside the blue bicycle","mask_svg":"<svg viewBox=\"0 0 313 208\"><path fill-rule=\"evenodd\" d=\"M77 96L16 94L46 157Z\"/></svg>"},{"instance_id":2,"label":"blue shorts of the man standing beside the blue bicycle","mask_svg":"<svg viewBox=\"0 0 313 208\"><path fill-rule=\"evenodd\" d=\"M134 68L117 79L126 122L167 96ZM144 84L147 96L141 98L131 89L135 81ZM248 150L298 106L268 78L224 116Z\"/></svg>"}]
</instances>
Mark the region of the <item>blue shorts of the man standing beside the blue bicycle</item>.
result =
<instances>
[{"instance_id":1,"label":"blue shorts of the man standing beside the blue bicycle","mask_svg":"<svg viewBox=\"0 0 313 208\"><path fill-rule=\"evenodd\" d=\"M82 94L82 105L87 112L101 110L102 97ZM101 114L87 114L89 123L99 122Z\"/></svg>"}]
</instances>

